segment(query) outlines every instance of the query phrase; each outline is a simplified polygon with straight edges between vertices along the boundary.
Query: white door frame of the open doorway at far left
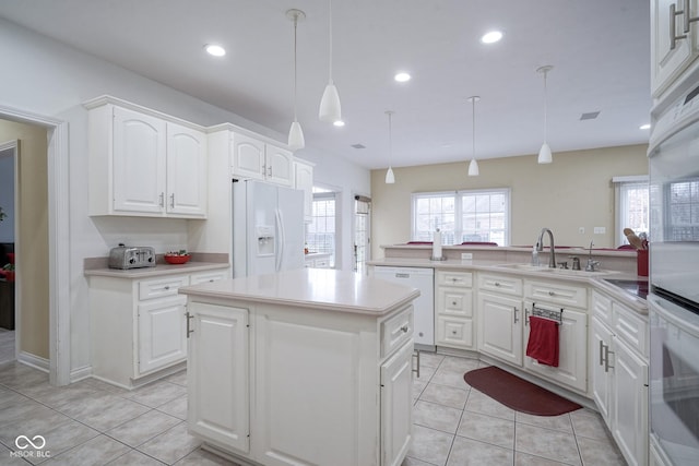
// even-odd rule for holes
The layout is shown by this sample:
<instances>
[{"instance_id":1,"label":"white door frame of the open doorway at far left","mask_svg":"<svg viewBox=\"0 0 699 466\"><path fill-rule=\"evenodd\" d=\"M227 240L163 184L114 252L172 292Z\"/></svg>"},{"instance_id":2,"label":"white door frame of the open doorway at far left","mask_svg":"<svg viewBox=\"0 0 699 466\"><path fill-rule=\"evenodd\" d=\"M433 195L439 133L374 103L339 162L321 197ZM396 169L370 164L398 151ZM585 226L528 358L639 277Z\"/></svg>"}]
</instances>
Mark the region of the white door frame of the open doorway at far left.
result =
<instances>
[{"instance_id":1,"label":"white door frame of the open doorway at far left","mask_svg":"<svg viewBox=\"0 0 699 466\"><path fill-rule=\"evenodd\" d=\"M49 383L67 385L70 383L71 336L68 122L2 105L0 118L47 130Z\"/></svg>"}]
</instances>

